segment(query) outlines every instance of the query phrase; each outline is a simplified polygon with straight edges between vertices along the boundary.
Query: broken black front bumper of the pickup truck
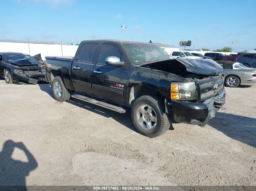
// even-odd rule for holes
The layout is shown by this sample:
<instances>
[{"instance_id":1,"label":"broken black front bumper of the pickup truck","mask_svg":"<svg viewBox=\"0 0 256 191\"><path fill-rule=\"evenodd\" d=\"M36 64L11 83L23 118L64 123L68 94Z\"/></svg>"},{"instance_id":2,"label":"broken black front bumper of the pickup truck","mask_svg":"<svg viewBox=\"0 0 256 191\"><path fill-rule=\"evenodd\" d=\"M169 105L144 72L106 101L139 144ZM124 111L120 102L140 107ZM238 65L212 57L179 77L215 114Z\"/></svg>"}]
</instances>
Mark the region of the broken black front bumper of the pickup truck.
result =
<instances>
[{"instance_id":1,"label":"broken black front bumper of the pickup truck","mask_svg":"<svg viewBox=\"0 0 256 191\"><path fill-rule=\"evenodd\" d=\"M173 118L179 123L205 126L209 119L215 117L215 113L222 108L225 103L225 96L224 90L221 94L200 103L172 100Z\"/></svg>"}]
</instances>

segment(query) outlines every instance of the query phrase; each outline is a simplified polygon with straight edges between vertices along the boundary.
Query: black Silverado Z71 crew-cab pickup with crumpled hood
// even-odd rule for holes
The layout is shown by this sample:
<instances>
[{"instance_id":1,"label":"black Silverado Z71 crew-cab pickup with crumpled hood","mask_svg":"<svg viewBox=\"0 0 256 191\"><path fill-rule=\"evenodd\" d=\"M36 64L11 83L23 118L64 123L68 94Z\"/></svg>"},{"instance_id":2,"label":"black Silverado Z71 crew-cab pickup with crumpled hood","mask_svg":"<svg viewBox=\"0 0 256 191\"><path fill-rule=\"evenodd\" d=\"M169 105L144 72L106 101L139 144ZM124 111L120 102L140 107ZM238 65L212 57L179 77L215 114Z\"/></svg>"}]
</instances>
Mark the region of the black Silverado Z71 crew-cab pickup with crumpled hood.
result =
<instances>
[{"instance_id":1,"label":"black Silverado Z71 crew-cab pickup with crumpled hood","mask_svg":"<svg viewBox=\"0 0 256 191\"><path fill-rule=\"evenodd\" d=\"M45 59L56 100L74 97L119 113L130 107L148 137L171 121L205 126L224 109L223 68L210 59L171 59L152 43L120 40L82 41L75 57Z\"/></svg>"}]
</instances>

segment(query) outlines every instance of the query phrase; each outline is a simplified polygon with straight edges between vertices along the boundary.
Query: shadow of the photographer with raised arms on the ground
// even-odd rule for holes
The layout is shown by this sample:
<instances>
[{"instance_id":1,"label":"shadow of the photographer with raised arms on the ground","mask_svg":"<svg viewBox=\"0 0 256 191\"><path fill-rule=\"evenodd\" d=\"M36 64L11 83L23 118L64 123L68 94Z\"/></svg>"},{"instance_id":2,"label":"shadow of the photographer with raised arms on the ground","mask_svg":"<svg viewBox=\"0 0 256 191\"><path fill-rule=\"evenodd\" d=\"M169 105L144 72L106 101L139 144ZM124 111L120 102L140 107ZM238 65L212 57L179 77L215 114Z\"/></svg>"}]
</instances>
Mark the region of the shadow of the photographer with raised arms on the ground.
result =
<instances>
[{"instance_id":1,"label":"shadow of the photographer with raised arms on the ground","mask_svg":"<svg viewBox=\"0 0 256 191\"><path fill-rule=\"evenodd\" d=\"M14 160L12 153L15 148L22 150L28 162ZM22 142L5 141L0 152L0 188L2 190L27 190L26 176L38 166L33 155Z\"/></svg>"}]
</instances>

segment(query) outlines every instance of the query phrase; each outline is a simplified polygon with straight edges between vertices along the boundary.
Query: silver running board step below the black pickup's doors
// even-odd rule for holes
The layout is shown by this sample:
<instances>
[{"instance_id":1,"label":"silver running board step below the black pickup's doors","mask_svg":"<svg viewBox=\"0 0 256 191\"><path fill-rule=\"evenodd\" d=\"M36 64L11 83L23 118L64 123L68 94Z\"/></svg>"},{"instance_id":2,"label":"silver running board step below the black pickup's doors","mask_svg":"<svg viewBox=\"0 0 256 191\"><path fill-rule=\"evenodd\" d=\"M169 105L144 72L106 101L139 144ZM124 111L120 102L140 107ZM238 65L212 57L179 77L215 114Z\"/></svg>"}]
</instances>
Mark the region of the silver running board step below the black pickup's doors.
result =
<instances>
[{"instance_id":1,"label":"silver running board step below the black pickup's doors","mask_svg":"<svg viewBox=\"0 0 256 191\"><path fill-rule=\"evenodd\" d=\"M71 97L74 97L78 100L86 101L86 102L89 102L89 103L92 103L92 104L95 104L95 105L98 105L98 106L101 106L101 107L105 107L109 110L113 110L113 111L116 111L118 113L125 113L125 109L123 109L121 107L117 107L117 106L114 106L114 105L111 105L111 104L108 104L108 103L105 103L105 102L102 102L102 101L91 99L89 97L85 97L85 96L82 96L80 94L73 94L73 95L71 95Z\"/></svg>"}]
</instances>

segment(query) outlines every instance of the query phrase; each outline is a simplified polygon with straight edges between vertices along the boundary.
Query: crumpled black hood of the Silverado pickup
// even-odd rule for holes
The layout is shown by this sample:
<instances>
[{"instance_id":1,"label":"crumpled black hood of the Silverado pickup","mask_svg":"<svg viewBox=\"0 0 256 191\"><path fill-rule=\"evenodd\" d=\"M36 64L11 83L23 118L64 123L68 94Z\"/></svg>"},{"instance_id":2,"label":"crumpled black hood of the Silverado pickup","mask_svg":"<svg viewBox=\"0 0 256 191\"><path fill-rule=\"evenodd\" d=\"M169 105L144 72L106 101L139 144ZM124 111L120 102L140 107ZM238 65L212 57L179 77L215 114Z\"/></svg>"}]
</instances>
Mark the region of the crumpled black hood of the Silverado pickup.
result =
<instances>
[{"instance_id":1,"label":"crumpled black hood of the Silverado pickup","mask_svg":"<svg viewBox=\"0 0 256 191\"><path fill-rule=\"evenodd\" d=\"M169 60L163 60L160 62L151 62L145 65L142 65L142 67L150 68L151 66L161 66L161 64L167 64L170 65L175 63L181 63L185 66L188 72L193 72L196 74L205 74L205 75L220 75L224 72L224 68L219 65L217 62L211 59L169 59Z\"/></svg>"}]
</instances>

